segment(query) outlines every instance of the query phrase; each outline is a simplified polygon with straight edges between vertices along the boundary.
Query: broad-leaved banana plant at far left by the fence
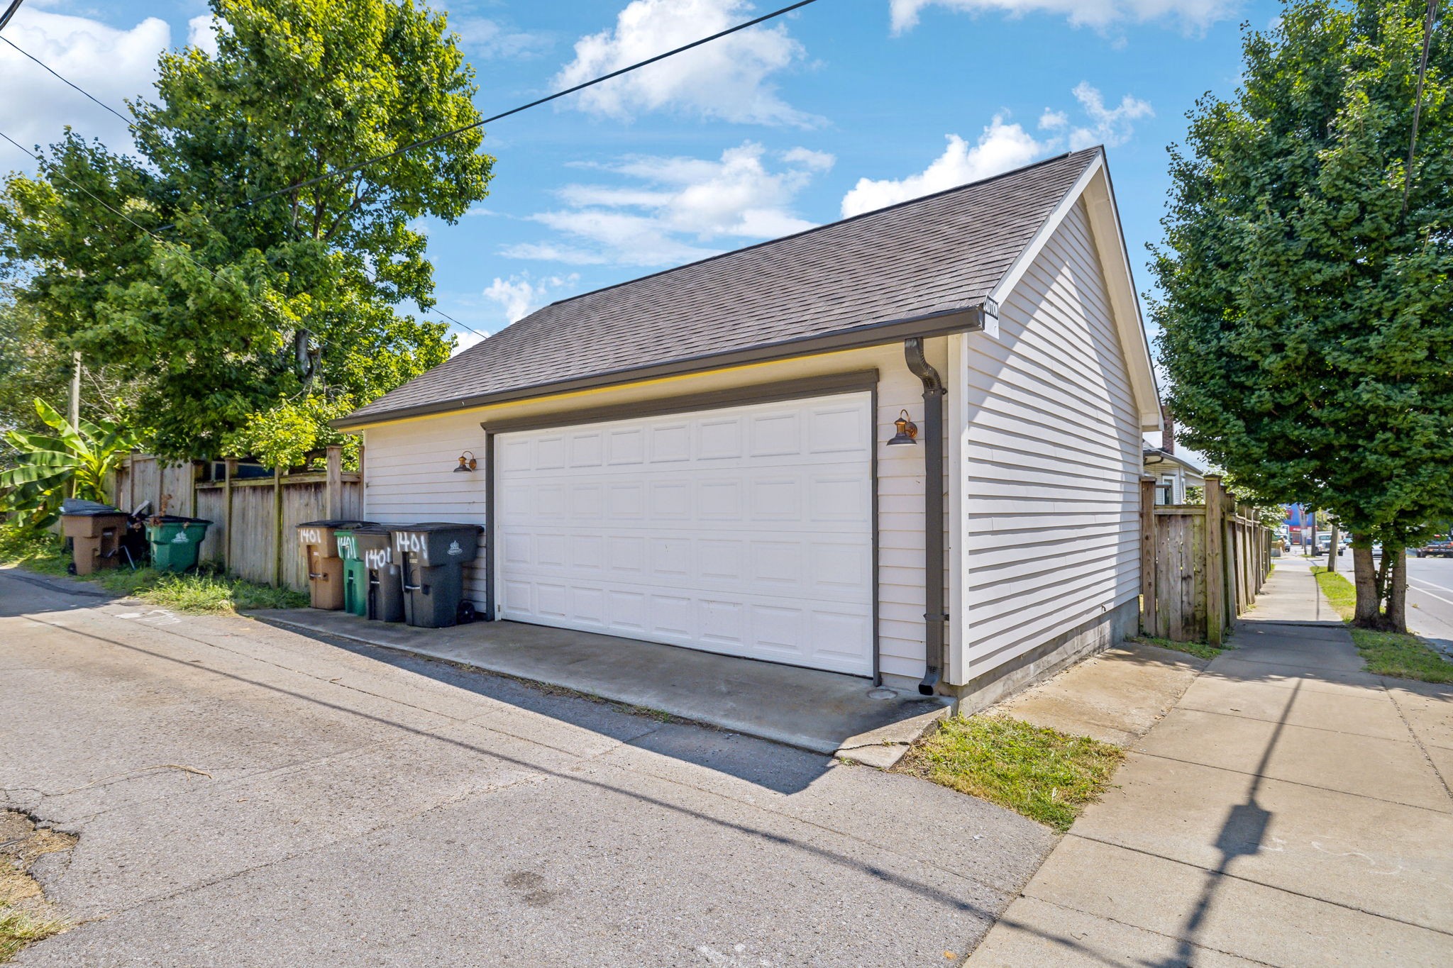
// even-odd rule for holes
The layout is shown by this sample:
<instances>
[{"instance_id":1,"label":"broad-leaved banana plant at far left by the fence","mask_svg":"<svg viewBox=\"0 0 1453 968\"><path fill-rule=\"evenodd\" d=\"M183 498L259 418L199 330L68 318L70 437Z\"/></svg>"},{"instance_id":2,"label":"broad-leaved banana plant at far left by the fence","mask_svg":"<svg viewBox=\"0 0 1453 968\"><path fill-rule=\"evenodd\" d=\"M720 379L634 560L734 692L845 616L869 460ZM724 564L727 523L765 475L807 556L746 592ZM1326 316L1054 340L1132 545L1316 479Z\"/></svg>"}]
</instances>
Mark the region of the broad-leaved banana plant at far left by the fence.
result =
<instances>
[{"instance_id":1,"label":"broad-leaved banana plant at far left by the fence","mask_svg":"<svg viewBox=\"0 0 1453 968\"><path fill-rule=\"evenodd\" d=\"M0 472L0 514L19 515L22 527L39 530L60 518L65 498L105 502L108 477L137 441L109 421L71 424L41 399L35 411L54 434L4 432L15 460Z\"/></svg>"}]
</instances>

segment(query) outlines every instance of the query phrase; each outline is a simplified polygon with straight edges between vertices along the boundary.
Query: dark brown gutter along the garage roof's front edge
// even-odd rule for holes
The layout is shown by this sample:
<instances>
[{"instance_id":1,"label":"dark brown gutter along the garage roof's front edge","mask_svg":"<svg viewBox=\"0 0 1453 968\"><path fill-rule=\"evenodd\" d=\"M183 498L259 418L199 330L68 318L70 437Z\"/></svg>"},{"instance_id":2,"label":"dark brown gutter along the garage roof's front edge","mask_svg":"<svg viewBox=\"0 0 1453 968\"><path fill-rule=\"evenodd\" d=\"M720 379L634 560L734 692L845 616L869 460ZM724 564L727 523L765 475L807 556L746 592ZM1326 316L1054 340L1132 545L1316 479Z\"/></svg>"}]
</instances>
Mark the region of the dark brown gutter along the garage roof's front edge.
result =
<instances>
[{"instance_id":1,"label":"dark brown gutter along the garage roof's front edge","mask_svg":"<svg viewBox=\"0 0 1453 968\"><path fill-rule=\"evenodd\" d=\"M481 393L478 396L464 396L450 401L434 401L414 406L401 406L398 409L366 414L362 417L350 414L349 417L328 421L328 427L339 431L353 431L376 424L391 424L400 419L410 419L414 417L452 414L456 411L477 409L495 403L511 403L514 401L533 399L539 396L604 389L609 386L622 386L625 383L654 380L665 376L686 376L690 373L724 370L751 363L772 363L774 360L790 360L793 357L815 356L819 353L862 350L866 347L897 343L899 340L907 340L908 337L946 337L956 332L972 332L982 328L984 302L979 300L955 309L944 309L904 319L891 319L886 322L873 322L828 334L783 340L780 343L764 343L745 350L732 350L729 353L708 353L695 357L681 357L679 360L668 360L665 363L657 363L645 367L593 373L590 376L571 380L538 383L535 386L522 386L500 390L497 393Z\"/></svg>"}]
</instances>

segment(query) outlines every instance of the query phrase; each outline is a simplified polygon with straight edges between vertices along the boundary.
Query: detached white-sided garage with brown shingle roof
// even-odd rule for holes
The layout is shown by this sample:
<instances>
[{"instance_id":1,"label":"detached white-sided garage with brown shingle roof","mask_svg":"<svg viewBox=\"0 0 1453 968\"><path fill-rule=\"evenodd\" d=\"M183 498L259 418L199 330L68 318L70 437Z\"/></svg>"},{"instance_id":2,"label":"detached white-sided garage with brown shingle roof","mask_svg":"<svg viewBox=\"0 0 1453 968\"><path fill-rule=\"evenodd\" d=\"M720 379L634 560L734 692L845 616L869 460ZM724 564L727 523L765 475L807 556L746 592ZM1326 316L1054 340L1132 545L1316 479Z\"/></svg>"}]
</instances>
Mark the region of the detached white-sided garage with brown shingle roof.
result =
<instances>
[{"instance_id":1,"label":"detached white-sided garage with brown shingle roof","mask_svg":"<svg viewBox=\"0 0 1453 968\"><path fill-rule=\"evenodd\" d=\"M1136 627L1159 405L1100 148L554 303L336 427L365 517L487 527L485 617L974 705Z\"/></svg>"}]
</instances>

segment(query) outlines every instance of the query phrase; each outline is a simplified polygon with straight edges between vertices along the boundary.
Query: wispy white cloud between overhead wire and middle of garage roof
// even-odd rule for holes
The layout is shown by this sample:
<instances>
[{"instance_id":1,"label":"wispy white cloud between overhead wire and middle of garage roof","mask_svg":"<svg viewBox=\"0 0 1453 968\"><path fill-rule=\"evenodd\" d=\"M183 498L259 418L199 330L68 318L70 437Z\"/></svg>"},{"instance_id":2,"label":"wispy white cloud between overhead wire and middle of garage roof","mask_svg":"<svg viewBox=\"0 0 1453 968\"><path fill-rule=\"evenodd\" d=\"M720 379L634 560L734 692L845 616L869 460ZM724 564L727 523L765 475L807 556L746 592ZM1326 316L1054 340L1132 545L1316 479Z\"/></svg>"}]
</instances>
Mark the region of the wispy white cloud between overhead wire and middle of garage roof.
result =
<instances>
[{"instance_id":1,"label":"wispy white cloud between overhead wire and middle of garage roof","mask_svg":"<svg viewBox=\"0 0 1453 968\"><path fill-rule=\"evenodd\" d=\"M667 266L712 255L718 250L709 244L716 241L790 235L812 226L792 210L796 194L834 161L806 148L769 157L761 145L744 142L716 160L638 155L596 165L629 181L562 187L556 194L567 208L532 218L568 242L513 245L506 254Z\"/></svg>"}]
</instances>

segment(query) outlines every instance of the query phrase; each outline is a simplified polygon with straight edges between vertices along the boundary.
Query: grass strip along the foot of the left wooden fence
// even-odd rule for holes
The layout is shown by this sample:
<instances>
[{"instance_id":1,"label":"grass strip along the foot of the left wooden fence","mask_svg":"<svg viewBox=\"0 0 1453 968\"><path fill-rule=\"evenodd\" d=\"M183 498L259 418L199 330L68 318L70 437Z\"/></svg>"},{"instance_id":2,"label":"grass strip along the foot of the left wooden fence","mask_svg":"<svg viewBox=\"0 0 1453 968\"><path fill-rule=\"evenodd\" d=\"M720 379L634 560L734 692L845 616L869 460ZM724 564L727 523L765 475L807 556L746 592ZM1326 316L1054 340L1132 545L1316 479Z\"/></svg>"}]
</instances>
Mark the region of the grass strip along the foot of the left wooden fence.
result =
<instances>
[{"instance_id":1,"label":"grass strip along the foot of the left wooden fence","mask_svg":"<svg viewBox=\"0 0 1453 968\"><path fill-rule=\"evenodd\" d=\"M42 575L65 575L70 556L64 541L54 534L26 534L0 528L0 565L12 565ZM254 585L222 575L187 572L174 575L154 567L115 567L80 581L100 585L108 592L144 601L179 612L225 615L251 608L302 608L308 596L289 588Z\"/></svg>"}]
</instances>

